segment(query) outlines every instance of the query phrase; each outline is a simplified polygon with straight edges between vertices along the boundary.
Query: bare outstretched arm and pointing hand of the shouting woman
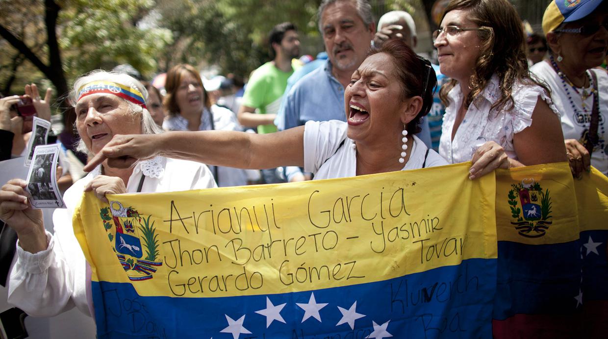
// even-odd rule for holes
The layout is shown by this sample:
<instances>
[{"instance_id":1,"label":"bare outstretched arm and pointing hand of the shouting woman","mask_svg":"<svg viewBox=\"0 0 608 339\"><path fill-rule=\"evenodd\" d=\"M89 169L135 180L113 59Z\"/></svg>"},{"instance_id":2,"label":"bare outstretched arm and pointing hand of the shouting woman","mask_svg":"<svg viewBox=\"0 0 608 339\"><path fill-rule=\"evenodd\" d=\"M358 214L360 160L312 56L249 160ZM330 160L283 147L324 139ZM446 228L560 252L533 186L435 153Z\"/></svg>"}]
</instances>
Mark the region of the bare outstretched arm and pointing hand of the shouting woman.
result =
<instances>
[{"instance_id":1,"label":"bare outstretched arm and pointing hand of the shouting woman","mask_svg":"<svg viewBox=\"0 0 608 339\"><path fill-rule=\"evenodd\" d=\"M304 165L304 126L270 134L235 131L165 132L115 135L85 166L90 171L108 159L127 168L137 159L164 156L235 168Z\"/></svg>"}]
</instances>

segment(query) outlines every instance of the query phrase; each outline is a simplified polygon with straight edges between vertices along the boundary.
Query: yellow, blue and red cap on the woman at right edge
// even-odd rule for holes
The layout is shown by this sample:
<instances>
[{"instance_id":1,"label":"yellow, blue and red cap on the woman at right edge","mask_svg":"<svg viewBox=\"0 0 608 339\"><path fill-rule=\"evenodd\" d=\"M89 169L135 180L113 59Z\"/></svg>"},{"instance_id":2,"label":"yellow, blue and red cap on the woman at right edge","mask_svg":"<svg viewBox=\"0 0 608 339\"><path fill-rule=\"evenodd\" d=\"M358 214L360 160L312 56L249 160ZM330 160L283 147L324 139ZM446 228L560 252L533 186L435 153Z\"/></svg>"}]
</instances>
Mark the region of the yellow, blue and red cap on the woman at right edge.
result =
<instances>
[{"instance_id":1,"label":"yellow, blue and red cap on the woman at right edge","mask_svg":"<svg viewBox=\"0 0 608 339\"><path fill-rule=\"evenodd\" d=\"M542 31L547 35L562 22L572 22L590 15L604 0L553 0L542 16Z\"/></svg>"}]
</instances>

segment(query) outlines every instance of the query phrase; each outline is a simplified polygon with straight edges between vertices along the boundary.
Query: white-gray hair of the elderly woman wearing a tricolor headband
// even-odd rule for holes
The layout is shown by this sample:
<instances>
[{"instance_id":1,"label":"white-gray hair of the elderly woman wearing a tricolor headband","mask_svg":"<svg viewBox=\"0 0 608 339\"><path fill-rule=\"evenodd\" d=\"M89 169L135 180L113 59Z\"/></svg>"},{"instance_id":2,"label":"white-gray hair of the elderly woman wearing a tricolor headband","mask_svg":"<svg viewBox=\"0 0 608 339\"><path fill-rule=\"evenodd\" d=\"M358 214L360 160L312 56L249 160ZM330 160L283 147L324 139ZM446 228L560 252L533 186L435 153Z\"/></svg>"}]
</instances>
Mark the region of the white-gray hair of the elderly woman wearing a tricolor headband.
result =
<instances>
[{"instance_id":1,"label":"white-gray hair of the elderly woman wearing a tricolor headband","mask_svg":"<svg viewBox=\"0 0 608 339\"><path fill-rule=\"evenodd\" d=\"M139 80L131 77L125 73L119 72L108 72L107 70L94 70L89 74L83 75L74 81L74 86L69 94L69 100L73 107L76 106L78 101L78 89L85 84L91 83L92 81L112 81L113 83L122 84L126 87L134 87L137 91L141 92L143 100L148 101L148 91ZM148 109L143 108L139 104L120 98L128 104L128 112L134 116L139 116L142 119L142 134L158 134L162 132L162 129L154 123ZM89 149L86 148L85 143L82 139L78 142L76 150L84 152L85 154L90 153Z\"/></svg>"}]
</instances>

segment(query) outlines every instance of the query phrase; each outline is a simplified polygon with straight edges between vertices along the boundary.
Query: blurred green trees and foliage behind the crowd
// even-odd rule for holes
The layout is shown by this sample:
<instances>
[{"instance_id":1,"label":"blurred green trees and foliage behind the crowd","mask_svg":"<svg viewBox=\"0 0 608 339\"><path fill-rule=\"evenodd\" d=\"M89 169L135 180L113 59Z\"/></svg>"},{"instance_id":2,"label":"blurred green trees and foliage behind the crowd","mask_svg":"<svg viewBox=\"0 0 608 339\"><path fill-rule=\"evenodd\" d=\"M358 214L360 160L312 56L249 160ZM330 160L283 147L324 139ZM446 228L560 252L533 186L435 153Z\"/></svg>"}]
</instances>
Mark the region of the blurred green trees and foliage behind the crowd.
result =
<instances>
[{"instance_id":1,"label":"blurred green trees and foliage behind the crowd","mask_svg":"<svg viewBox=\"0 0 608 339\"><path fill-rule=\"evenodd\" d=\"M541 32L547 0L513 0L528 29ZM277 22L294 22L300 54L316 56L323 41L316 24L320 0L16 0L0 1L0 93L24 85L52 87L61 97L75 77L130 64L145 80L172 66L192 64L206 78L247 80L271 59L264 39ZM430 32L447 0L371 0L376 21L391 10L412 14L416 52L433 59ZM530 32L531 33L531 32ZM61 101L53 114L61 114ZM60 118L56 118L60 120Z\"/></svg>"}]
</instances>

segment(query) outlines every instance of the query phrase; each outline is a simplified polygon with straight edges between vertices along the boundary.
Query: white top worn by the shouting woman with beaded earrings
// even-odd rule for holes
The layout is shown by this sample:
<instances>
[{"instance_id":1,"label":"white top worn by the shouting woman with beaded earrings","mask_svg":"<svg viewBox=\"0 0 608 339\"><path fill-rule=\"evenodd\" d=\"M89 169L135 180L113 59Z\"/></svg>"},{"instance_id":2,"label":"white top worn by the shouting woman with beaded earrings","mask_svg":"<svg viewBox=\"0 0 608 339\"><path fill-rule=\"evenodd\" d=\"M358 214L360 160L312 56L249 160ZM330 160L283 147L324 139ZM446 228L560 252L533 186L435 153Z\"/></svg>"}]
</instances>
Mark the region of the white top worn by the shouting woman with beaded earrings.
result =
<instances>
[{"instance_id":1,"label":"white top worn by the shouting woman with beaded earrings","mask_svg":"<svg viewBox=\"0 0 608 339\"><path fill-rule=\"evenodd\" d=\"M357 151L348 139L348 124L339 120L306 122L304 127L304 170L314 173L314 179L354 177L357 175ZM446 160L427 146L416 135L410 158L401 169L447 165ZM426 156L426 158L425 158ZM426 160L426 163L425 163ZM396 160L395 160L396 161Z\"/></svg>"}]
</instances>

